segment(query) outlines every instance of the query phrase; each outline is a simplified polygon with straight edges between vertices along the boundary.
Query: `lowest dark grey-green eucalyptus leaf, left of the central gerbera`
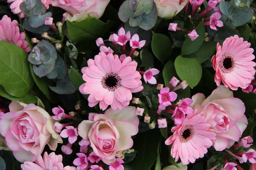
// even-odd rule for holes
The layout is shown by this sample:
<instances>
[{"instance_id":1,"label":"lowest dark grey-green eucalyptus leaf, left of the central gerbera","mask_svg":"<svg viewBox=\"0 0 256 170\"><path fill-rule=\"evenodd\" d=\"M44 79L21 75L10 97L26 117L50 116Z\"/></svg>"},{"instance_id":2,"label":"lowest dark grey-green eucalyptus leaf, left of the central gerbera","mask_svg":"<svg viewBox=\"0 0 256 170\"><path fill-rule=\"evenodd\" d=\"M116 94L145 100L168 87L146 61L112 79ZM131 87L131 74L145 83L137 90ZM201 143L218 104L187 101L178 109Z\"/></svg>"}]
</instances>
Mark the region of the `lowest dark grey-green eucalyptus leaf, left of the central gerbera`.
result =
<instances>
[{"instance_id":1,"label":"lowest dark grey-green eucalyptus leaf, left of the central gerbera","mask_svg":"<svg viewBox=\"0 0 256 170\"><path fill-rule=\"evenodd\" d=\"M68 74L64 79L58 79L55 87L49 86L49 88L57 94L73 94L76 92L76 88L72 84Z\"/></svg>"}]
</instances>

